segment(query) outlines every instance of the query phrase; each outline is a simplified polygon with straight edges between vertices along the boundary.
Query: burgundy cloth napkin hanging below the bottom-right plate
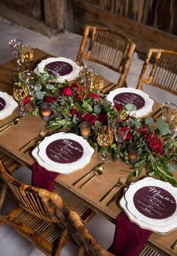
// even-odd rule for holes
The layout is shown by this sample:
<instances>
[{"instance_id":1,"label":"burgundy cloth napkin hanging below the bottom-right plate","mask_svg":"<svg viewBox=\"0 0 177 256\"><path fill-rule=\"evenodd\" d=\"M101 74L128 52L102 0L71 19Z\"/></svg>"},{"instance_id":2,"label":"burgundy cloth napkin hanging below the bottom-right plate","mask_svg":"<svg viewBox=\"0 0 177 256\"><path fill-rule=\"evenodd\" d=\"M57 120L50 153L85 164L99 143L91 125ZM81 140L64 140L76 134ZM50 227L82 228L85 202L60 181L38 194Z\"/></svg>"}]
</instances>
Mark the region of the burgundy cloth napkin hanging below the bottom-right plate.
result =
<instances>
[{"instance_id":1,"label":"burgundy cloth napkin hanging below the bottom-right plate","mask_svg":"<svg viewBox=\"0 0 177 256\"><path fill-rule=\"evenodd\" d=\"M113 245L109 251L116 256L139 256L151 233L129 221L121 212L116 218Z\"/></svg>"}]
</instances>

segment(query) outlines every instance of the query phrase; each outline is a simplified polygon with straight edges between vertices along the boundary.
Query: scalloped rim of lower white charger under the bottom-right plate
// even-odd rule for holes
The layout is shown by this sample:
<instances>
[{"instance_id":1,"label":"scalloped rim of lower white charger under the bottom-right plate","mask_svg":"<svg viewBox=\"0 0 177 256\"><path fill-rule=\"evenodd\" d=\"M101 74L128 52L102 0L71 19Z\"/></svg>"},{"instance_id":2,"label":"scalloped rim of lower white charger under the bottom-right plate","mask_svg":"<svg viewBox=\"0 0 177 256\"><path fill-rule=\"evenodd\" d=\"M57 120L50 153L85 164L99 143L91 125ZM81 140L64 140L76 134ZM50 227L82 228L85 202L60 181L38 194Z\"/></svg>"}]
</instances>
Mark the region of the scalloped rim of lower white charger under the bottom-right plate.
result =
<instances>
[{"instance_id":1,"label":"scalloped rim of lower white charger under the bottom-right plate","mask_svg":"<svg viewBox=\"0 0 177 256\"><path fill-rule=\"evenodd\" d=\"M127 218L129 218L130 221L132 221L133 223L138 225L140 228L143 228L143 229L146 229L146 230L151 230L151 231L154 231L156 233L160 233L160 234L164 234L164 235L169 233L169 232L172 232L172 230L175 230L177 228L177 223L162 226L162 227L157 227L157 226L154 226L152 224L147 224L147 223L139 220L134 215L132 215L132 213L127 209L127 200L124 198L124 196L121 197L121 200L119 201L119 204L121 206L121 209L127 215Z\"/></svg>"}]
</instances>

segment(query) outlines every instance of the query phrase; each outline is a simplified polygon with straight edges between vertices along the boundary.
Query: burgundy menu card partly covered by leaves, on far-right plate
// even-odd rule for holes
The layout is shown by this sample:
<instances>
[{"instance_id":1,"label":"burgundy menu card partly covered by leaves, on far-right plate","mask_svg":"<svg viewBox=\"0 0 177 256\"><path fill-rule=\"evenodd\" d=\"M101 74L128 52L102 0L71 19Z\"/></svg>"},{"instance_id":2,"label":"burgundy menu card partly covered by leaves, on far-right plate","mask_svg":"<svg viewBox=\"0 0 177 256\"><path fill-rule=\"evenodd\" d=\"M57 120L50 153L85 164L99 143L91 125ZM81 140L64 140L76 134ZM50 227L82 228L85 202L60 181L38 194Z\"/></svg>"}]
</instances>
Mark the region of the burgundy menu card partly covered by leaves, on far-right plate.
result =
<instances>
[{"instance_id":1,"label":"burgundy menu card partly covered by leaves, on far-right plate","mask_svg":"<svg viewBox=\"0 0 177 256\"><path fill-rule=\"evenodd\" d=\"M140 109L145 105L145 100L136 93L118 93L113 98L113 103L116 104L133 104L136 105L136 109Z\"/></svg>"}]
</instances>

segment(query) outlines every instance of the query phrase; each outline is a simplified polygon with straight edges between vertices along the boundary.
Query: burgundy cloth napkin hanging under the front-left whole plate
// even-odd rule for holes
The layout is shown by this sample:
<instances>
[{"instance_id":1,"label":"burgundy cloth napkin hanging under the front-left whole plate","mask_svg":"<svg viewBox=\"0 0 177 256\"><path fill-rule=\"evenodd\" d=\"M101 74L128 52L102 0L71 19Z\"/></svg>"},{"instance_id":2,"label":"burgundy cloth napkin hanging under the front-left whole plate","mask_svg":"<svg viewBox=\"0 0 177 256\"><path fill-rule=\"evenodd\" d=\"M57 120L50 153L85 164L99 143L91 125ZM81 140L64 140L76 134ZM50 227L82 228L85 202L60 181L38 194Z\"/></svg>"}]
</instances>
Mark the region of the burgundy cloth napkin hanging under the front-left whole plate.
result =
<instances>
[{"instance_id":1,"label":"burgundy cloth napkin hanging under the front-left whole plate","mask_svg":"<svg viewBox=\"0 0 177 256\"><path fill-rule=\"evenodd\" d=\"M58 175L59 173L46 171L46 169L34 162L32 164L31 185L34 187L44 188L52 192L54 189L55 178Z\"/></svg>"}]
</instances>

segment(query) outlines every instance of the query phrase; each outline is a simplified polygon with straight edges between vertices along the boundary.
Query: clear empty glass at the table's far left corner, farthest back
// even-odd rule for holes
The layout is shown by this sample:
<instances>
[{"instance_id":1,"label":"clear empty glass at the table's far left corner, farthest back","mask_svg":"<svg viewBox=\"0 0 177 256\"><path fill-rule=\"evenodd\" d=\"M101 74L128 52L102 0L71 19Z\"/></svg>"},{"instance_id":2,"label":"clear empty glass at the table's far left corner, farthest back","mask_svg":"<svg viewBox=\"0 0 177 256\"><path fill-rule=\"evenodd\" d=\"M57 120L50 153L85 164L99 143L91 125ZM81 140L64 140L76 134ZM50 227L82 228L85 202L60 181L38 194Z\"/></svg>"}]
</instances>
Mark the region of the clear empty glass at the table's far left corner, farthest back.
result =
<instances>
[{"instance_id":1,"label":"clear empty glass at the table's far left corner, farthest back","mask_svg":"<svg viewBox=\"0 0 177 256\"><path fill-rule=\"evenodd\" d=\"M13 56L17 59L17 69L15 69L17 72L20 72L20 66L22 65L22 59L21 59L21 51L23 47L23 41L20 39L10 39L8 41L8 44L10 45L10 49L12 51Z\"/></svg>"}]
</instances>

